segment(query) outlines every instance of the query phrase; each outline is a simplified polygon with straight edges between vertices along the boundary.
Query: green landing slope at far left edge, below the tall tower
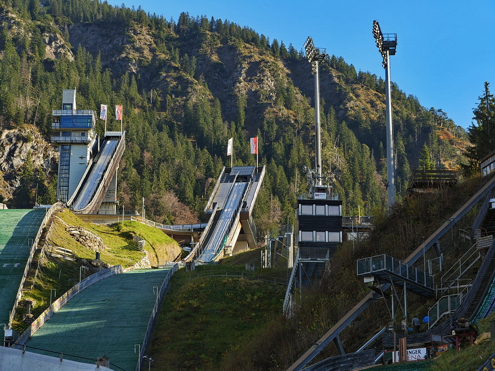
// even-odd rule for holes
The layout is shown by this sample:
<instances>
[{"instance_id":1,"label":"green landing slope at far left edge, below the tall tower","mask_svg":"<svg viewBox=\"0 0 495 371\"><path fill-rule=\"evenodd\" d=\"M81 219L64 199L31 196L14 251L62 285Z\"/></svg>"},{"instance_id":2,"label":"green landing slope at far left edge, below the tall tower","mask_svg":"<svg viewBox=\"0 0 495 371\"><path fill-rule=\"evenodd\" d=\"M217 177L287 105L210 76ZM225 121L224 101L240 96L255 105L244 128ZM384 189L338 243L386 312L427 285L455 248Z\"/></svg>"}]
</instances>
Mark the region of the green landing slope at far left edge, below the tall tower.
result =
<instances>
[{"instance_id":1,"label":"green landing slope at far left edge, below the tall tower","mask_svg":"<svg viewBox=\"0 0 495 371\"><path fill-rule=\"evenodd\" d=\"M0 210L0 323L8 324L10 312L26 269L45 209ZM32 239L30 241L30 239Z\"/></svg>"}]
</instances>

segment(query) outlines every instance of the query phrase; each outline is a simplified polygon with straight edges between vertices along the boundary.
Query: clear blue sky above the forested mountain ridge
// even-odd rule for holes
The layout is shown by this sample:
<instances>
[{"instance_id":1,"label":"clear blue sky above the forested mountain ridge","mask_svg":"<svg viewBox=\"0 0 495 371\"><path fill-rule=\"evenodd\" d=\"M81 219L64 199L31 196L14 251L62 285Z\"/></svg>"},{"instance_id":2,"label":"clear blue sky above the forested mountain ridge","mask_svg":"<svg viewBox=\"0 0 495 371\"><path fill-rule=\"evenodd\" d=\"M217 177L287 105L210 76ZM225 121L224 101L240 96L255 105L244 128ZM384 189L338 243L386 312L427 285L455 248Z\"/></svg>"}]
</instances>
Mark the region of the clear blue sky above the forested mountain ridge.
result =
<instances>
[{"instance_id":1,"label":"clear blue sky above the forested mountain ridge","mask_svg":"<svg viewBox=\"0 0 495 371\"><path fill-rule=\"evenodd\" d=\"M371 32L376 19L383 33L397 34L392 81L424 107L441 108L467 128L484 82L495 92L494 0L133 0L125 5L176 21L182 11L228 19L297 50L311 36L315 46L344 57L357 71L384 77Z\"/></svg>"}]
</instances>

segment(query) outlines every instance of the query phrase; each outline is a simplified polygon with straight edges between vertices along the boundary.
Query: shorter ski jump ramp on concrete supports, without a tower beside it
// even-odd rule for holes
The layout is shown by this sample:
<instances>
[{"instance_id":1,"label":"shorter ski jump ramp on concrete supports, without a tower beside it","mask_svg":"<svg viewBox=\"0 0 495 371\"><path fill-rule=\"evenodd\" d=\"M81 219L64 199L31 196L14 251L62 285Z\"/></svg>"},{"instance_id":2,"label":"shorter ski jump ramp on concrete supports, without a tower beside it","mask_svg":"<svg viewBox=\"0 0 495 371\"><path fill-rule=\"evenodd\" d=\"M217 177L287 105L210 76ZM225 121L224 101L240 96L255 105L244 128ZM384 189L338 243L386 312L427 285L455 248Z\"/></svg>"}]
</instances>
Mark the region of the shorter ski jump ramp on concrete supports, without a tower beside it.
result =
<instances>
[{"instance_id":1,"label":"shorter ski jump ramp on concrete supports, without a tower beside it","mask_svg":"<svg viewBox=\"0 0 495 371\"><path fill-rule=\"evenodd\" d=\"M264 175L264 166L222 169L204 209L208 223L185 261L211 264L256 247L252 210Z\"/></svg>"}]
</instances>

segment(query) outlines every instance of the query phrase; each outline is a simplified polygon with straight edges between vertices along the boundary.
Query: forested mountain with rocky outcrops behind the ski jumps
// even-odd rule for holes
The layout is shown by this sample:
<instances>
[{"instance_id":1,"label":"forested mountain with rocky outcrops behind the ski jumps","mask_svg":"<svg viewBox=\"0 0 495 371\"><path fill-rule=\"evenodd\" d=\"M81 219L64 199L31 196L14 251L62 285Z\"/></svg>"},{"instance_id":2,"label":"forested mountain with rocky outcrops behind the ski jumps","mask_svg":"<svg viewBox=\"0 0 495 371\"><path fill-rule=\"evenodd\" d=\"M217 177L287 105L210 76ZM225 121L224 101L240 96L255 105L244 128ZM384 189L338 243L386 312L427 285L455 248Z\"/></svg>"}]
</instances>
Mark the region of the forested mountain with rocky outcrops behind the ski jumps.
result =
<instances>
[{"instance_id":1,"label":"forested mountain with rocky outcrops behind the ski jumps","mask_svg":"<svg viewBox=\"0 0 495 371\"><path fill-rule=\"evenodd\" d=\"M310 66L295 46L270 36L214 17L181 13L167 20L106 1L0 1L1 130L29 124L48 139L62 89L77 89L81 109L122 104L120 199L126 209L140 209L145 197L147 216L165 223L200 217L212 182L230 166L227 140L234 138L235 165L254 164L249 137L258 136L267 176L256 216L266 231L279 218L293 218L296 192L305 187L302 165L314 166ZM332 55L320 69L320 90L323 166L336 176L344 213L382 210L384 81ZM445 112L421 106L396 84L392 98L397 195L421 156L440 167L466 162L467 135ZM109 125L120 129L116 121ZM103 121L97 129L103 132ZM54 173L39 168L26 175L29 166L15 171L24 171L32 199L3 194L0 202L31 205L40 182L49 186L38 201L53 202Z\"/></svg>"}]
</instances>

